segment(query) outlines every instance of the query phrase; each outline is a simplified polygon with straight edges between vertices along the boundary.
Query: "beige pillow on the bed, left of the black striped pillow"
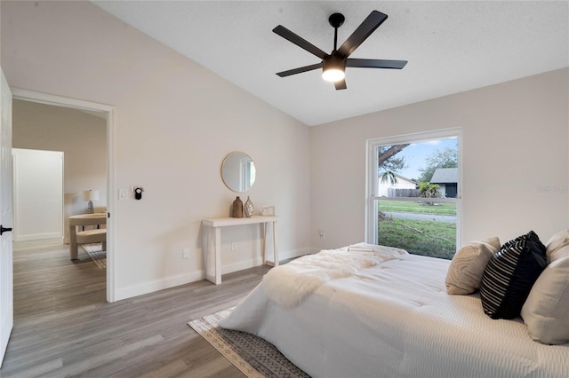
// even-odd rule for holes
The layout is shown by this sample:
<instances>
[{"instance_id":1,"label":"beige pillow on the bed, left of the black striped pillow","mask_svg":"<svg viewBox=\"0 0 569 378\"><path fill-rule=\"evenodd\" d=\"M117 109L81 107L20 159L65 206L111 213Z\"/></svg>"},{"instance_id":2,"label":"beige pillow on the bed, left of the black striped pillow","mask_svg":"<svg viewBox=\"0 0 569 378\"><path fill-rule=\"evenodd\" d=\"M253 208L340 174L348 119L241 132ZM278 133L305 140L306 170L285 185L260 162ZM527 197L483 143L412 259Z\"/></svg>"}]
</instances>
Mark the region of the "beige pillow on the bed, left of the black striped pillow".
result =
<instances>
[{"instance_id":1,"label":"beige pillow on the bed, left of the black striped pillow","mask_svg":"<svg viewBox=\"0 0 569 378\"><path fill-rule=\"evenodd\" d=\"M474 293L480 287L486 264L499 250L500 240L496 236L462 246L454 254L446 273L446 292L453 295Z\"/></svg>"}]
</instances>

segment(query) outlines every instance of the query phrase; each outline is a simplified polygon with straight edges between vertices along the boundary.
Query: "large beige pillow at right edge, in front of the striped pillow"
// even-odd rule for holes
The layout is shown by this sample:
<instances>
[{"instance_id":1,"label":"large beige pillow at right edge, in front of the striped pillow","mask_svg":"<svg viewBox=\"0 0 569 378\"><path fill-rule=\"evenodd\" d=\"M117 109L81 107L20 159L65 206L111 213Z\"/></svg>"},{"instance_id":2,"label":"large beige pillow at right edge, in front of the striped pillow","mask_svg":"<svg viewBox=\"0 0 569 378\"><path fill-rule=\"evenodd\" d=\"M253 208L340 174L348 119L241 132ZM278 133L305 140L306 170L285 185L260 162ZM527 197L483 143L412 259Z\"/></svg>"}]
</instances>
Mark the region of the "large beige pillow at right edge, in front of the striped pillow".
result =
<instances>
[{"instance_id":1,"label":"large beige pillow at right edge, in front of the striped pillow","mask_svg":"<svg viewBox=\"0 0 569 378\"><path fill-rule=\"evenodd\" d=\"M569 256L549 264L535 281L522 307L522 319L533 340L569 342Z\"/></svg>"}]
</instances>

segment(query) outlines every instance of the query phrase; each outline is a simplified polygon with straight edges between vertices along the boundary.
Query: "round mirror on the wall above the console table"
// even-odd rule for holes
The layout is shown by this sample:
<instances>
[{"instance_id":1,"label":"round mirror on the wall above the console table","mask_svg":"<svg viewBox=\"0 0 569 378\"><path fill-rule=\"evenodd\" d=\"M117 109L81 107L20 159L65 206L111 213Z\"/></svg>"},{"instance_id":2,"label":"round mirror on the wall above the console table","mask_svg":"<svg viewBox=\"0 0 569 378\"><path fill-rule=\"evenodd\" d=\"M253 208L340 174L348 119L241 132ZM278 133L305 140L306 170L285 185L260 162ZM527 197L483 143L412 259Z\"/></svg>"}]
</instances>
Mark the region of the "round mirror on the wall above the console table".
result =
<instances>
[{"instance_id":1,"label":"round mirror on the wall above the console table","mask_svg":"<svg viewBox=\"0 0 569 378\"><path fill-rule=\"evenodd\" d=\"M248 191L255 182L255 163L248 154L228 154L221 164L221 178L233 192Z\"/></svg>"}]
</instances>

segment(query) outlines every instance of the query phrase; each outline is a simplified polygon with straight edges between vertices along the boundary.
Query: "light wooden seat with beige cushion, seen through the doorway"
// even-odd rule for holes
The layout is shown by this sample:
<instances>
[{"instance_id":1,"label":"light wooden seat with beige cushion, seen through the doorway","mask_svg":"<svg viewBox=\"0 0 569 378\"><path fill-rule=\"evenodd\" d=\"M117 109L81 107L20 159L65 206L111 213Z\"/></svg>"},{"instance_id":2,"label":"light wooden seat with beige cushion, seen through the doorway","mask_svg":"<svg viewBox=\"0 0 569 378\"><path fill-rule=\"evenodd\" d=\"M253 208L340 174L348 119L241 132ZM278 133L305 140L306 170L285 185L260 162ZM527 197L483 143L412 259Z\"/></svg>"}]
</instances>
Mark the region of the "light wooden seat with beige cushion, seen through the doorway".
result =
<instances>
[{"instance_id":1,"label":"light wooden seat with beige cushion, seen through the doorway","mask_svg":"<svg viewBox=\"0 0 569 378\"><path fill-rule=\"evenodd\" d=\"M102 250L107 250L107 229L84 230L85 225L107 224L107 213L82 214L69 217L69 257L76 260L78 244L102 243ZM79 231L77 228L80 227Z\"/></svg>"}]
</instances>

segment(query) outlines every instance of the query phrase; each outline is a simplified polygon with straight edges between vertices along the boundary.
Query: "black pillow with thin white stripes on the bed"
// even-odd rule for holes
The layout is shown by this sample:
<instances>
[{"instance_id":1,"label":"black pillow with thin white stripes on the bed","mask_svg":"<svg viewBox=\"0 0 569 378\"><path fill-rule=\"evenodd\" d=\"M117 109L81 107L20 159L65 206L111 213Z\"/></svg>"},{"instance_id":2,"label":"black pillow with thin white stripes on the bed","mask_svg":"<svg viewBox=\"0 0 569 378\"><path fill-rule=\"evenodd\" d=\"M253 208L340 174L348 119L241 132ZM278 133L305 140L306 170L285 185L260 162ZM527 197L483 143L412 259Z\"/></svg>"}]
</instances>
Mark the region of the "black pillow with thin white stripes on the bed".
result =
<instances>
[{"instance_id":1,"label":"black pillow with thin white stripes on the bed","mask_svg":"<svg viewBox=\"0 0 569 378\"><path fill-rule=\"evenodd\" d=\"M545 246L533 231L504 243L486 264L480 282L485 314L492 319L519 316L546 261Z\"/></svg>"}]
</instances>

